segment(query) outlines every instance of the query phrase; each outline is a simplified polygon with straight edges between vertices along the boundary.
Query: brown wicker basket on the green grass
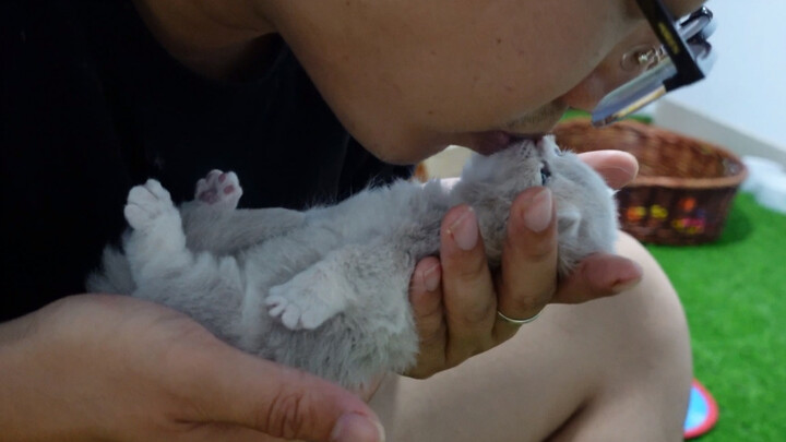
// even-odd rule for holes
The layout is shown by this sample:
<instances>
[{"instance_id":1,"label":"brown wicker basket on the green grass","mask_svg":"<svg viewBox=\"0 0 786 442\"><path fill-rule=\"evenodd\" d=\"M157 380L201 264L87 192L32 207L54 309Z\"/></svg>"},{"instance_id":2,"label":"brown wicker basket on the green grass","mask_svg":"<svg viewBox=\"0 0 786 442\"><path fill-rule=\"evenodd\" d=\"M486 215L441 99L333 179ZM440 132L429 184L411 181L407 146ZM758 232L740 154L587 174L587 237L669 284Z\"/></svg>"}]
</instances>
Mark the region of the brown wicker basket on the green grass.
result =
<instances>
[{"instance_id":1,"label":"brown wicker basket on the green grass","mask_svg":"<svg viewBox=\"0 0 786 442\"><path fill-rule=\"evenodd\" d=\"M558 124L555 134L560 146L575 152L615 148L639 159L639 177L617 201L622 229L642 242L717 239L747 175L742 162L718 146L636 121L596 129L574 119Z\"/></svg>"}]
</instances>

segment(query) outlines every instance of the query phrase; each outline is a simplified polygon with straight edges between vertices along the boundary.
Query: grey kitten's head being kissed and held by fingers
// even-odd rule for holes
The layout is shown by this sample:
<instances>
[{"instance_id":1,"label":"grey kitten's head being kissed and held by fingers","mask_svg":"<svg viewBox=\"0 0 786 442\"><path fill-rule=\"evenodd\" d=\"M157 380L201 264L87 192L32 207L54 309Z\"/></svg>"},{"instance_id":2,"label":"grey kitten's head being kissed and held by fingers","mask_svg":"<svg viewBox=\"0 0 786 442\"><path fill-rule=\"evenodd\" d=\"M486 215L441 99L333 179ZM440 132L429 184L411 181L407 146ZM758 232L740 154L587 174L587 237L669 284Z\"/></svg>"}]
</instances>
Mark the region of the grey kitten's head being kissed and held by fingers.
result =
<instances>
[{"instance_id":1,"label":"grey kitten's head being kissed and held by fingers","mask_svg":"<svg viewBox=\"0 0 786 442\"><path fill-rule=\"evenodd\" d=\"M557 207L562 275L570 273L584 256L598 251L609 252L614 248L617 207L612 191L579 156L561 151L553 136L545 136L538 142L522 141L488 157L475 155L465 168L462 181L472 182L468 188L479 186L478 190L486 195L479 198L478 193L469 201L505 206L504 214L490 211L490 216L504 219L513 199L524 189L549 188ZM487 202L478 201L483 199Z\"/></svg>"}]
</instances>

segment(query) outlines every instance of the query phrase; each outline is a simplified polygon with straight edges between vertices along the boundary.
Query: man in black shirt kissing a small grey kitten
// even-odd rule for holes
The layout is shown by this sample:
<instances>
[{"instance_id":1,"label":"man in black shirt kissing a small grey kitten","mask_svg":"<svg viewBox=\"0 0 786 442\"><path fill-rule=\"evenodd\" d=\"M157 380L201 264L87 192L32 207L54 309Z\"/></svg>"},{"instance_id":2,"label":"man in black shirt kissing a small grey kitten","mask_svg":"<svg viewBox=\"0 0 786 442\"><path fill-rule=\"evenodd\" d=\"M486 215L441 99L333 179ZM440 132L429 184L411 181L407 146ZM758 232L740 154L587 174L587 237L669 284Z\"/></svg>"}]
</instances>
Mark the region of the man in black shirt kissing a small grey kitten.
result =
<instances>
[{"instance_id":1,"label":"man in black shirt kissing a small grey kitten","mask_svg":"<svg viewBox=\"0 0 786 442\"><path fill-rule=\"evenodd\" d=\"M0 438L377 441L381 421L396 441L680 439L691 361L674 290L628 237L558 284L546 189L514 203L498 274L472 211L449 212L439 259L413 275L418 363L365 392L374 411L160 306L73 296L147 176L183 200L233 169L246 204L302 206L449 144L491 153L548 132L641 74L620 64L658 46L638 2L1 8ZM635 174L623 154L585 158L612 186Z\"/></svg>"}]
</instances>

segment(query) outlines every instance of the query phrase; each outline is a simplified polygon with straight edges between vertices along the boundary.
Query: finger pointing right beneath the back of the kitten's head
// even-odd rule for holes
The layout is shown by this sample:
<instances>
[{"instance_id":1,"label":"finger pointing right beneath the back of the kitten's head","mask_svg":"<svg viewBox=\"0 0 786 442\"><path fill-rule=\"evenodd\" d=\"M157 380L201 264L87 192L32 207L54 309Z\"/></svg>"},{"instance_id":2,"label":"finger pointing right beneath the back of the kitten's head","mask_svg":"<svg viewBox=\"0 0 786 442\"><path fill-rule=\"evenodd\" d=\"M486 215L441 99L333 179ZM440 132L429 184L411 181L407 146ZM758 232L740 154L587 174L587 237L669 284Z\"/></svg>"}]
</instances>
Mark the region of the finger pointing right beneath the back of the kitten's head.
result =
<instances>
[{"instance_id":1,"label":"finger pointing right beneath the back of the kitten's head","mask_svg":"<svg viewBox=\"0 0 786 442\"><path fill-rule=\"evenodd\" d=\"M642 267L615 254L596 253L584 259L560 284L553 302L580 303L624 291L642 278Z\"/></svg>"}]
</instances>

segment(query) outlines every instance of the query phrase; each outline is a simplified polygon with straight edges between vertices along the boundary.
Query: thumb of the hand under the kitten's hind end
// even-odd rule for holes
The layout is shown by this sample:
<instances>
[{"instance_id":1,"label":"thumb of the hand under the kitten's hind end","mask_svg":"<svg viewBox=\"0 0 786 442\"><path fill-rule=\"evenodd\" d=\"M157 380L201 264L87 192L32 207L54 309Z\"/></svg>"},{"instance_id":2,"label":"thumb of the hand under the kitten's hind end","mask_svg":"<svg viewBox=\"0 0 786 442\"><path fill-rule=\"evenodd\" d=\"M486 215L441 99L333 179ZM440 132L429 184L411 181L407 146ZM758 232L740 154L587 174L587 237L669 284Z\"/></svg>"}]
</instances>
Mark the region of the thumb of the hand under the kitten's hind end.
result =
<instances>
[{"instance_id":1,"label":"thumb of the hand under the kitten's hind end","mask_svg":"<svg viewBox=\"0 0 786 442\"><path fill-rule=\"evenodd\" d=\"M224 344L200 355L199 360L190 355L183 372L191 379L181 380L190 385L193 422L236 425L284 439L384 441L374 413L338 385Z\"/></svg>"}]
</instances>

